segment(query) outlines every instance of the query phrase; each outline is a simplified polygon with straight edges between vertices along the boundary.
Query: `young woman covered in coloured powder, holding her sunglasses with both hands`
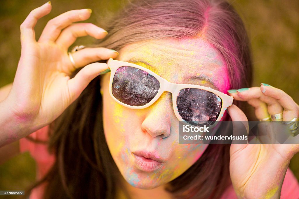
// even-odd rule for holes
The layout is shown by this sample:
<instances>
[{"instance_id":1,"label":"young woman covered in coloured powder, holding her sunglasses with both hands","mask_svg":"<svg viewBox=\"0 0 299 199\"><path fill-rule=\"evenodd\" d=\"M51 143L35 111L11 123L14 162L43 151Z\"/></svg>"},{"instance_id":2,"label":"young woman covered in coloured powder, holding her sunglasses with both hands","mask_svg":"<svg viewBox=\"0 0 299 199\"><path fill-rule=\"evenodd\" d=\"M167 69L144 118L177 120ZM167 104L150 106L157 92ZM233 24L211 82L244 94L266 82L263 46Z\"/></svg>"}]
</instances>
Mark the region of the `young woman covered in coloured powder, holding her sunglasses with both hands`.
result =
<instances>
[{"instance_id":1,"label":"young woman covered in coloured powder, holding her sunglasses with both hands","mask_svg":"<svg viewBox=\"0 0 299 199\"><path fill-rule=\"evenodd\" d=\"M288 165L299 144L178 143L179 119L247 121L238 101L260 120L298 118L298 104L282 90L250 87L248 37L230 4L137 1L108 23L108 35L74 23L90 9L71 10L35 41L33 28L50 11L48 2L22 23L16 77L0 103L1 146L20 139L38 163L40 181L27 196L298 198ZM68 53L86 35L102 40ZM182 84L194 92L174 92ZM202 93L199 105L186 107Z\"/></svg>"}]
</instances>

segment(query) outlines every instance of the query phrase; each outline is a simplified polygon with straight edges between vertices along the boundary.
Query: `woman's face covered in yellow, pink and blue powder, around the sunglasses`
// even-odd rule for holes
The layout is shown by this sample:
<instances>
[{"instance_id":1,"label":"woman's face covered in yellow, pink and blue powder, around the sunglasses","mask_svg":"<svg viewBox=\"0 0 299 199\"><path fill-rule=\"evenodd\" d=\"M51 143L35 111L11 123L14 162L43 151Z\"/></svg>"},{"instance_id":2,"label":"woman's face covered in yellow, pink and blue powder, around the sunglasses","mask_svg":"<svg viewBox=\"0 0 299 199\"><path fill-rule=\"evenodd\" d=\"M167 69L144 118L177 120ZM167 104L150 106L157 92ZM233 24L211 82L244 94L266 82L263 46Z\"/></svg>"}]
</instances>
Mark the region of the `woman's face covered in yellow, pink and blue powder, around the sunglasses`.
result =
<instances>
[{"instance_id":1,"label":"woman's face covered in yellow, pink and blue powder, around the sunglasses","mask_svg":"<svg viewBox=\"0 0 299 199\"><path fill-rule=\"evenodd\" d=\"M117 59L147 67L173 83L202 85L224 93L229 89L222 58L201 38L134 43L122 48ZM179 144L179 120L170 92L148 108L130 109L109 95L109 77L110 73L105 74L101 82L104 132L112 158L128 183L141 189L164 185L201 157L208 144ZM144 158L138 151L151 152L158 160Z\"/></svg>"}]
</instances>

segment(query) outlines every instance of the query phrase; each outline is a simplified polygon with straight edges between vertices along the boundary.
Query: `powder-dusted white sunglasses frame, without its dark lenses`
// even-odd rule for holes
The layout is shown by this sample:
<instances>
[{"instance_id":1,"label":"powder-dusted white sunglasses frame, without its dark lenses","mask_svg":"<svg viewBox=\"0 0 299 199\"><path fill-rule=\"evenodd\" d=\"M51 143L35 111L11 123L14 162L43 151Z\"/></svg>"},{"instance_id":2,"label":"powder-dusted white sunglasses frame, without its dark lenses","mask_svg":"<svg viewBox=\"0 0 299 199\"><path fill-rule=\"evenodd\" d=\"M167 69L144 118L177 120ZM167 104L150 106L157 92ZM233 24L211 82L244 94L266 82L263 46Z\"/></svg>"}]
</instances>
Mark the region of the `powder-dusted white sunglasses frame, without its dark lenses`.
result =
<instances>
[{"instance_id":1,"label":"powder-dusted white sunglasses frame, without its dark lenses","mask_svg":"<svg viewBox=\"0 0 299 199\"><path fill-rule=\"evenodd\" d=\"M204 87L204 86L199 86L199 85L194 85L194 84L171 83L171 82L167 81L166 79L160 77L156 73L152 72L151 70L149 70L145 67L139 66L137 64L132 64L132 63L129 63L129 62L119 61L119 60L114 60L113 58L109 58L109 60L107 61L107 65L111 70L110 80L109 80L109 93L110 93L111 97L118 104L123 105L124 107L127 107L127 108L131 108L131 109L144 109L144 108L147 108L147 107L151 106L152 104L154 104L155 101L157 101L158 98L160 98L160 96L162 95L162 93L164 91L168 91L168 92L171 92L171 94L173 96L172 97L173 110L175 112L176 117L179 119L179 121L184 121L182 119L181 115L179 114L178 108L176 106L176 101L177 101L177 97L179 95L180 90L185 89L185 88L197 88L197 89L206 90L206 91L209 91L209 92L212 92L212 93L216 94L219 98L221 98L222 106L221 106L221 110L220 110L220 113L219 113L218 118L217 118L216 121L220 121L221 118L223 117L223 114L224 114L225 110L233 104L234 98L232 96L226 95L225 93L222 93L218 90L214 90L210 87ZM140 70L144 70L145 72L148 72L150 75L154 76L159 81L160 88L158 90L158 93L148 104L145 104L143 106L130 106L128 104L125 104L125 103L119 101L112 94L112 82L113 82L115 72L118 70L118 68L123 67L123 66L129 66L129 67L134 67L134 68L137 68L137 69L140 69Z\"/></svg>"}]
</instances>

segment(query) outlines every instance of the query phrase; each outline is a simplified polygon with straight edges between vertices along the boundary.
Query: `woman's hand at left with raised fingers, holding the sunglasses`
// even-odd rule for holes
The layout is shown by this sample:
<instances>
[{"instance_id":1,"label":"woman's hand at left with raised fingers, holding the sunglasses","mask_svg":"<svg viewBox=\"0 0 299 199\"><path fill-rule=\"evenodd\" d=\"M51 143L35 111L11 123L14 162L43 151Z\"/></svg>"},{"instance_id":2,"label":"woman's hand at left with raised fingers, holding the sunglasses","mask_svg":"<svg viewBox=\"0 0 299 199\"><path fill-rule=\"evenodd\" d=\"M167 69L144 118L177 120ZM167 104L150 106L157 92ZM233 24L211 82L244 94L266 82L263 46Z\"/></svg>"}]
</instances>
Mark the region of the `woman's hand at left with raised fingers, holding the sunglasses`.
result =
<instances>
[{"instance_id":1,"label":"woman's hand at left with raised fingers, holding the sunglasses","mask_svg":"<svg viewBox=\"0 0 299 199\"><path fill-rule=\"evenodd\" d=\"M36 41L33 28L50 11L51 3L45 3L32 10L21 24L21 57L12 89L4 100L15 118L30 124L31 132L54 121L92 79L109 69L106 63L93 62L118 55L103 47L84 48L72 54L74 66L68 48L76 38L90 35L101 39L107 32L90 23L73 24L88 19L91 10L71 10L48 21ZM80 67L83 69L70 79L71 73Z\"/></svg>"}]
</instances>

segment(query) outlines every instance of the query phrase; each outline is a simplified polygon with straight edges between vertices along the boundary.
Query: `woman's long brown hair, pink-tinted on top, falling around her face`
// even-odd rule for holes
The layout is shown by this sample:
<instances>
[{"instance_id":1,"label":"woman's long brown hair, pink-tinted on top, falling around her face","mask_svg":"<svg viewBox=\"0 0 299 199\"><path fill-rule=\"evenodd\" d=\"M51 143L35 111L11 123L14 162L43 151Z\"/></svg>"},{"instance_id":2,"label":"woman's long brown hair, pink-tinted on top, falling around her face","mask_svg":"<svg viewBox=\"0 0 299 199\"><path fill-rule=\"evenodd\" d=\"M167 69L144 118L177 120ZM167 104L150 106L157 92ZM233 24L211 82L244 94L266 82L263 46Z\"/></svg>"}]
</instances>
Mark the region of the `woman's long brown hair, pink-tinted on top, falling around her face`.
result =
<instances>
[{"instance_id":1,"label":"woman's long brown hair, pink-tinted on top, falling around her face","mask_svg":"<svg viewBox=\"0 0 299 199\"><path fill-rule=\"evenodd\" d=\"M226 1L136 1L100 26L109 34L96 46L115 50L153 39L201 37L222 56L231 88L251 85L248 36ZM99 76L51 124L48 146L57 160L28 191L46 182L44 198L115 198L121 176L106 144L102 118ZM167 191L176 198L219 198L230 183L229 147L210 144L193 166L169 183Z\"/></svg>"}]
</instances>

